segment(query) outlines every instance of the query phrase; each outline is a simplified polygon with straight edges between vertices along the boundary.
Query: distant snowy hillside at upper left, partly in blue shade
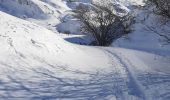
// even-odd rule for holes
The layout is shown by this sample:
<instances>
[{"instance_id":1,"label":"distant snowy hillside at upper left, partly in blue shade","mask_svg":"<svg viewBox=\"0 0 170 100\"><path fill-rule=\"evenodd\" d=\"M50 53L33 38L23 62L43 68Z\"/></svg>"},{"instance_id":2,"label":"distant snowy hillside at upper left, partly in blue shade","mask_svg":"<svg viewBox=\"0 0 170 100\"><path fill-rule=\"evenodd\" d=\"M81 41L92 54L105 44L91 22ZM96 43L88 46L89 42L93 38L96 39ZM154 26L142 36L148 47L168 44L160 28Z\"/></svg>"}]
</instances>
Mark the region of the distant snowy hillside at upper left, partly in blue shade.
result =
<instances>
[{"instance_id":1,"label":"distant snowy hillside at upper left, partly in blue shade","mask_svg":"<svg viewBox=\"0 0 170 100\"><path fill-rule=\"evenodd\" d=\"M0 0L0 10L57 32L60 15L69 8L62 0Z\"/></svg>"}]
</instances>

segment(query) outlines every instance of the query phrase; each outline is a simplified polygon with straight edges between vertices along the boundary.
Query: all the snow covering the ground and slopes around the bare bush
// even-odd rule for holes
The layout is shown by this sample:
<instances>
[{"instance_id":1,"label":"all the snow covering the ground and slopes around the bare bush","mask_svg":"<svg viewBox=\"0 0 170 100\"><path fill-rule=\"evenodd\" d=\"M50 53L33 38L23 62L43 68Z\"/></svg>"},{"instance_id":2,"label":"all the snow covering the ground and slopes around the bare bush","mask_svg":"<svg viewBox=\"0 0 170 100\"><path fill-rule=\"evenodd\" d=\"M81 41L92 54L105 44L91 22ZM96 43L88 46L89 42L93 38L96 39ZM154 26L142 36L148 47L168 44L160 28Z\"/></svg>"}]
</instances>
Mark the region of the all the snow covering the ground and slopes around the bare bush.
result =
<instances>
[{"instance_id":1,"label":"all the snow covering the ground and slopes around the bare bush","mask_svg":"<svg viewBox=\"0 0 170 100\"><path fill-rule=\"evenodd\" d=\"M121 38L113 47L77 45L91 40L76 30L70 10L90 1L25 1L31 4L0 0L1 100L170 99L170 48L140 23L130 41ZM121 2L129 2L126 9L143 4ZM65 29L79 35L64 35Z\"/></svg>"}]
</instances>

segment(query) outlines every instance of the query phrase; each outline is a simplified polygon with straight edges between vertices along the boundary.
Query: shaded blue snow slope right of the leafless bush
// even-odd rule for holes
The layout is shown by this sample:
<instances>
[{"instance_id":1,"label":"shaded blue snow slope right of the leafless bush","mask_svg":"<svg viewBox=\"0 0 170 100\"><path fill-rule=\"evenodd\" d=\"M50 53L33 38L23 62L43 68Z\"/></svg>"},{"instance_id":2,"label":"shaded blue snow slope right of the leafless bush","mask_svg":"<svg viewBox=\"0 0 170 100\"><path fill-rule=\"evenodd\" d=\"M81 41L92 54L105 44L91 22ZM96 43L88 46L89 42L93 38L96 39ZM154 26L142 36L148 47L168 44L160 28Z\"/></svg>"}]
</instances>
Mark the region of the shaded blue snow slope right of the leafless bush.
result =
<instances>
[{"instance_id":1,"label":"shaded blue snow slope right of the leafless bush","mask_svg":"<svg viewBox=\"0 0 170 100\"><path fill-rule=\"evenodd\" d=\"M136 0L129 1L139 3ZM141 6L142 3L136 5ZM131 11L136 17L136 23L132 27L133 31L128 36L118 39L113 46L170 56L170 45L163 41L163 37L147 28L150 26L156 30L162 30L160 22L158 22L159 17L152 14L149 8L131 7ZM160 31L160 33L162 32Z\"/></svg>"}]
</instances>

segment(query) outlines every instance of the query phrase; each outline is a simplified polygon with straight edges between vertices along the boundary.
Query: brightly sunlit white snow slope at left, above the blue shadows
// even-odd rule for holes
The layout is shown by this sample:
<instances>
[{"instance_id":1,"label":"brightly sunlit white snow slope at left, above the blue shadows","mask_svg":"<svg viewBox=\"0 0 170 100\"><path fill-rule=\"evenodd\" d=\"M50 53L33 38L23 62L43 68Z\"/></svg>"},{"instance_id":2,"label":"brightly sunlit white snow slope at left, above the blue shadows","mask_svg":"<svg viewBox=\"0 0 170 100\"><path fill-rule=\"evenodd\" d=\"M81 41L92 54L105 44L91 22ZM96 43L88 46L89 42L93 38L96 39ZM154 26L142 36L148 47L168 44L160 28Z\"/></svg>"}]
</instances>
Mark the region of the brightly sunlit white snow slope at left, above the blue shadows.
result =
<instances>
[{"instance_id":1,"label":"brightly sunlit white snow slope at left, above the blue shadows","mask_svg":"<svg viewBox=\"0 0 170 100\"><path fill-rule=\"evenodd\" d=\"M4 62L13 61L8 57L11 55L11 57L23 57L25 59L32 59L33 61L35 60L34 57L40 58L39 60L50 64L57 64L59 62L66 65L73 64L74 67L79 66L80 68L83 68L82 62L85 65L95 66L96 64L93 63L95 61L99 61L99 68L101 66L107 66L107 59L105 62L105 58L98 58L98 53L95 59L89 60L89 57L95 57L95 55L86 54L86 50L81 50L73 44L65 42L56 34L43 27L17 19L3 12L1 12L0 16L2 25L0 27L1 47L4 48L1 52L2 55L5 54L1 57L3 57ZM103 55L100 52L99 54L99 56ZM80 61L77 61L77 59Z\"/></svg>"}]
</instances>

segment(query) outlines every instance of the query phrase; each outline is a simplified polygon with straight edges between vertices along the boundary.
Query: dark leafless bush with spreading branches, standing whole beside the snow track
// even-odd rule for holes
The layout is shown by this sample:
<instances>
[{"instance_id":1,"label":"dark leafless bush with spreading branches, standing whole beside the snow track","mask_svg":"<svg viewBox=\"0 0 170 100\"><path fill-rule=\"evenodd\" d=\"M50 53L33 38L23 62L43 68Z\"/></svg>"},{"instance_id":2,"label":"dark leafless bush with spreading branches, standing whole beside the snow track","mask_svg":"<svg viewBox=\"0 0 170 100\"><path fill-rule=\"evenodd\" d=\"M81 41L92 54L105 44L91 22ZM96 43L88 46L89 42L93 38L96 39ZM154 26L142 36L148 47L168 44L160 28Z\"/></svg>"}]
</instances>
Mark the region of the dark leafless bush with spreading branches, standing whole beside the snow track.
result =
<instances>
[{"instance_id":1,"label":"dark leafless bush with spreading branches, standing whole beside the snow track","mask_svg":"<svg viewBox=\"0 0 170 100\"><path fill-rule=\"evenodd\" d=\"M116 7L109 0L98 0L90 5L80 4L74 11L75 17L82 23L83 31L92 34L92 45L108 46L131 31L133 17L128 13L117 14ZM126 12L124 9L118 10Z\"/></svg>"}]
</instances>

